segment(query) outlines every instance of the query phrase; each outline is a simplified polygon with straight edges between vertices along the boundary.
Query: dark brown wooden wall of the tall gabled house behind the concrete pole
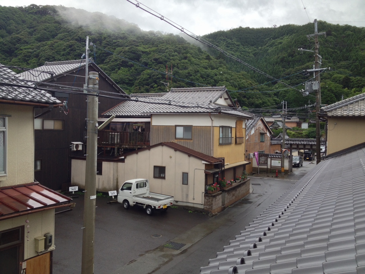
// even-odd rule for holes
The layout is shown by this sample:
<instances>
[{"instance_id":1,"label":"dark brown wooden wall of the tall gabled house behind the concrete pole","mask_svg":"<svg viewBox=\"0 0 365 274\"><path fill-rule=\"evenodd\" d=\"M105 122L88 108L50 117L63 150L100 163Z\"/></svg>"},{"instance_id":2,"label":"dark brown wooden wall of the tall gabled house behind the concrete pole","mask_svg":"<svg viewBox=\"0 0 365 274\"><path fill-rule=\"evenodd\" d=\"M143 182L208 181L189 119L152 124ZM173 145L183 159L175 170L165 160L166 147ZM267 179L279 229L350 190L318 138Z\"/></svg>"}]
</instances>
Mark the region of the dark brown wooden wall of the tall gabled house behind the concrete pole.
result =
<instances>
[{"instance_id":1,"label":"dark brown wooden wall of the tall gabled house behind the concrete pole","mask_svg":"<svg viewBox=\"0 0 365 274\"><path fill-rule=\"evenodd\" d=\"M89 71L95 71L89 66ZM76 72L70 75L58 77L56 81L50 83L58 83L61 85L69 85L74 87L84 87L85 77L76 77ZM80 69L77 75L84 76L85 68ZM106 79L99 74L99 90L115 92L120 96L119 91L112 87ZM75 80L75 82L74 82ZM73 84L74 82L74 84ZM42 84L47 86L47 83ZM64 130L35 130L35 159L42 160L42 170L36 171L35 179L46 187L54 190L61 189L62 183L71 182L71 161L69 156L84 155L83 151L72 152L70 149L71 142L83 142L84 130L87 118L87 96L83 92L81 94L69 94L68 108L69 113L66 115L61 109L53 109L39 118L64 119ZM67 98L57 97L58 100L64 102ZM99 117L104 111L107 111L120 103L119 99L110 99L99 97ZM35 109L35 115L45 112L47 109ZM83 146L84 148L84 146Z\"/></svg>"}]
</instances>

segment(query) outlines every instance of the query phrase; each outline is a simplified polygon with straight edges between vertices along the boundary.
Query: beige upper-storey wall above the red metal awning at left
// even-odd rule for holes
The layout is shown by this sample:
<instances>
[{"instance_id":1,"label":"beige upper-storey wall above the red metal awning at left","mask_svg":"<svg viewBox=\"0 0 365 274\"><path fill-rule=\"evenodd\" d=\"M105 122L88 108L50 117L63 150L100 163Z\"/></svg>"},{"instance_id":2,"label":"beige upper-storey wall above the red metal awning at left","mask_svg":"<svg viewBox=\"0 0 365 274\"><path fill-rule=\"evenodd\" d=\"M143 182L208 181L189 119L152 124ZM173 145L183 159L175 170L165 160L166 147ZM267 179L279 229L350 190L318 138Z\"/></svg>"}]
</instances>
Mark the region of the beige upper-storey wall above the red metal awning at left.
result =
<instances>
[{"instance_id":1,"label":"beige upper-storey wall above the red metal awning at left","mask_svg":"<svg viewBox=\"0 0 365 274\"><path fill-rule=\"evenodd\" d=\"M33 107L1 104L7 117L7 175L0 176L0 187L34 182Z\"/></svg>"}]
</instances>

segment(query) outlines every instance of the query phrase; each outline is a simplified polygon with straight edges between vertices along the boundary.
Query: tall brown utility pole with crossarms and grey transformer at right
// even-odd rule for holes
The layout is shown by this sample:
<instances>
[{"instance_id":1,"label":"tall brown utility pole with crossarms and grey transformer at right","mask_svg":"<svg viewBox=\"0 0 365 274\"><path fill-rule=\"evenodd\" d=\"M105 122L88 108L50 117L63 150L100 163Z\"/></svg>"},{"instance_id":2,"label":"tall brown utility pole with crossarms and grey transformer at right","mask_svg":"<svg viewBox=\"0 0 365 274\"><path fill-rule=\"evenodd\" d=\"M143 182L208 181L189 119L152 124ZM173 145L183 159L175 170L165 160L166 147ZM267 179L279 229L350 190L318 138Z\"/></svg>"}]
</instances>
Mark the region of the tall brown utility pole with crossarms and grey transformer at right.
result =
<instances>
[{"instance_id":1,"label":"tall brown utility pole with crossarms and grey transformer at right","mask_svg":"<svg viewBox=\"0 0 365 274\"><path fill-rule=\"evenodd\" d=\"M318 42L318 35L325 35L325 32L318 33L318 22L317 19L314 19L314 34L307 35L308 40L314 38L314 69L308 69L307 72L313 71L315 82L311 83L312 90L316 92L316 152L317 152L317 164L320 163L320 123L319 123L319 106L320 106L320 68L319 68L319 42ZM302 49L299 49L302 50ZM306 50L311 51L311 50ZM306 85L307 87L307 85Z\"/></svg>"}]
</instances>

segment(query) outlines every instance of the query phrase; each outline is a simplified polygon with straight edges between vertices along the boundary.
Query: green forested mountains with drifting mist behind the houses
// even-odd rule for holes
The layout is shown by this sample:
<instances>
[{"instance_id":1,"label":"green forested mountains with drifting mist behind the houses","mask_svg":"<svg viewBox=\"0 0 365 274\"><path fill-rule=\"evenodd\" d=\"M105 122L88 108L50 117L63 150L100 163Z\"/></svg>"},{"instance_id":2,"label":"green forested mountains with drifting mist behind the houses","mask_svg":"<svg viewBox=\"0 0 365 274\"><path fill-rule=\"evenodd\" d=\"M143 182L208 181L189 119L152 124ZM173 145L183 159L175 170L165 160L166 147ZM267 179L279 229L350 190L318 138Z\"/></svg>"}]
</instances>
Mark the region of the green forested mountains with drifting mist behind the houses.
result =
<instances>
[{"instance_id":1,"label":"green forested mountains with drifting mist behind the houses","mask_svg":"<svg viewBox=\"0 0 365 274\"><path fill-rule=\"evenodd\" d=\"M362 92L365 28L319 21L318 31L327 33L319 38L322 67L331 67L321 74L322 104ZM300 90L300 84L312 77L302 71L312 68L314 56L301 54L298 48L314 47L306 36L312 33L314 24L308 23L239 27L207 34L204 39L276 79L299 85ZM95 45L91 57L127 93L166 92L163 82L169 81L169 88L225 85L241 106L250 109L280 108L281 100L290 108L315 102L314 96L304 97L218 50L185 40L184 35L142 31L113 16L63 6L0 6L0 63L4 65L35 68L44 62L80 59L87 35ZM166 66L168 73L171 68L173 72L168 80Z\"/></svg>"}]
</instances>

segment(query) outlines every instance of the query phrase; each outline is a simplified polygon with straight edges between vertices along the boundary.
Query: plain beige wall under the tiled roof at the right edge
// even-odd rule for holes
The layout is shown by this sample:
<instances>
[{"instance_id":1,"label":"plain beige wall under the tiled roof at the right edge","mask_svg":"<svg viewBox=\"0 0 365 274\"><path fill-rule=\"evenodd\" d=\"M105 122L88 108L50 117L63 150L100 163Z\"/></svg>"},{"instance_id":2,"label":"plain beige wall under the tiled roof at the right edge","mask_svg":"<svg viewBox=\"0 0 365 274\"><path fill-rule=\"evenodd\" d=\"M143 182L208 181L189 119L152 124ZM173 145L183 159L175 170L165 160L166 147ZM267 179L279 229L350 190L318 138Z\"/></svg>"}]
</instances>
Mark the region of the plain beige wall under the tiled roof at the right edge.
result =
<instances>
[{"instance_id":1,"label":"plain beige wall under the tiled roof at the right edge","mask_svg":"<svg viewBox=\"0 0 365 274\"><path fill-rule=\"evenodd\" d=\"M365 142L365 118L328 117L327 155Z\"/></svg>"}]
</instances>

